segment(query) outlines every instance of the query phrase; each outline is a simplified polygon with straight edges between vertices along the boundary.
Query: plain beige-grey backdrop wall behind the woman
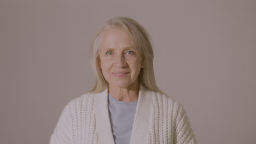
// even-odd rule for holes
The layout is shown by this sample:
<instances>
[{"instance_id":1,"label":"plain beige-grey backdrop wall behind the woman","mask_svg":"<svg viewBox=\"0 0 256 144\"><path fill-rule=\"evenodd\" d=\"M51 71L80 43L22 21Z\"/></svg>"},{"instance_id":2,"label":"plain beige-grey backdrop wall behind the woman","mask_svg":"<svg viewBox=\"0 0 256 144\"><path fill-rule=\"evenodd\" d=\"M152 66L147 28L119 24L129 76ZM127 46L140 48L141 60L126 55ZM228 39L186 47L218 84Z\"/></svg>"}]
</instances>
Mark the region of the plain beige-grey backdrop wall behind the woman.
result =
<instances>
[{"instance_id":1,"label":"plain beige-grey backdrop wall behind the woman","mask_svg":"<svg viewBox=\"0 0 256 144\"><path fill-rule=\"evenodd\" d=\"M48 143L63 107L93 83L92 36L130 16L152 35L160 88L198 143L256 143L256 1L0 3L0 143Z\"/></svg>"}]
</instances>

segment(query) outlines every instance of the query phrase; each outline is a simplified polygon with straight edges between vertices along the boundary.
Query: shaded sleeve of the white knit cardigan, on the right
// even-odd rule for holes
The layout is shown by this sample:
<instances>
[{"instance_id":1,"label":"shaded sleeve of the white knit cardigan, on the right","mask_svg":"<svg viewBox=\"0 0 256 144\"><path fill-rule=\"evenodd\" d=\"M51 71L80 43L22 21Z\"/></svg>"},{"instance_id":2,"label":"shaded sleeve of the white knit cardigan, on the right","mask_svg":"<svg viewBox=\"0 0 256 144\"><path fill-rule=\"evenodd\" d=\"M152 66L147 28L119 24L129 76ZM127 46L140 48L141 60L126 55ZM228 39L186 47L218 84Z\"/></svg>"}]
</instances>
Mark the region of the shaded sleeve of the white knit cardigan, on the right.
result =
<instances>
[{"instance_id":1,"label":"shaded sleeve of the white knit cardigan, on the right","mask_svg":"<svg viewBox=\"0 0 256 144\"><path fill-rule=\"evenodd\" d=\"M195 134L182 104L178 104L174 123L174 144L196 144Z\"/></svg>"}]
</instances>

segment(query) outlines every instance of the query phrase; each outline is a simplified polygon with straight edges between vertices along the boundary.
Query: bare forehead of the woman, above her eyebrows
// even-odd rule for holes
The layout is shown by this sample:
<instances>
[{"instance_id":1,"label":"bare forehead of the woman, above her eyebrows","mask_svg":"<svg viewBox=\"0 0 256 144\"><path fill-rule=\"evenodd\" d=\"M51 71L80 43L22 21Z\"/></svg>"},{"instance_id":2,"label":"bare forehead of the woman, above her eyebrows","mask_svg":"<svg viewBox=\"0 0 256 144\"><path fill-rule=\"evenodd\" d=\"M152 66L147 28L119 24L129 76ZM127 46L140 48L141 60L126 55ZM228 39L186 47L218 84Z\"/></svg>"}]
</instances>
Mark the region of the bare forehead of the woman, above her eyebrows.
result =
<instances>
[{"instance_id":1,"label":"bare forehead of the woman, above her eyebrows","mask_svg":"<svg viewBox=\"0 0 256 144\"><path fill-rule=\"evenodd\" d=\"M102 35L101 47L115 48L132 46L130 35L122 28L110 28Z\"/></svg>"}]
</instances>

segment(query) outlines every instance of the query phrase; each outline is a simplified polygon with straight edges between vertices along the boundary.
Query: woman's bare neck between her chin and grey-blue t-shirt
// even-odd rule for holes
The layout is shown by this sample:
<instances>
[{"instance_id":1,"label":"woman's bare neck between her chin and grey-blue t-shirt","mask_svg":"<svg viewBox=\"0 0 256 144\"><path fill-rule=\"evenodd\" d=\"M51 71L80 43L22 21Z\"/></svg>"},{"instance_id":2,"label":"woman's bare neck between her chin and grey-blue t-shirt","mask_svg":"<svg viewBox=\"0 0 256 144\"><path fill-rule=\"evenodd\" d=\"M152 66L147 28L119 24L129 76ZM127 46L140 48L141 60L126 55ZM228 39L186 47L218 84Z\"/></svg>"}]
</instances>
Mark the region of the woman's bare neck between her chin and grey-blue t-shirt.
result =
<instances>
[{"instance_id":1,"label":"woman's bare neck between her chin and grey-blue t-shirt","mask_svg":"<svg viewBox=\"0 0 256 144\"><path fill-rule=\"evenodd\" d=\"M138 100L139 94L139 82L134 82L131 86L123 88L123 87L114 87L109 85L108 92L112 95L113 98L119 101L136 101Z\"/></svg>"}]
</instances>

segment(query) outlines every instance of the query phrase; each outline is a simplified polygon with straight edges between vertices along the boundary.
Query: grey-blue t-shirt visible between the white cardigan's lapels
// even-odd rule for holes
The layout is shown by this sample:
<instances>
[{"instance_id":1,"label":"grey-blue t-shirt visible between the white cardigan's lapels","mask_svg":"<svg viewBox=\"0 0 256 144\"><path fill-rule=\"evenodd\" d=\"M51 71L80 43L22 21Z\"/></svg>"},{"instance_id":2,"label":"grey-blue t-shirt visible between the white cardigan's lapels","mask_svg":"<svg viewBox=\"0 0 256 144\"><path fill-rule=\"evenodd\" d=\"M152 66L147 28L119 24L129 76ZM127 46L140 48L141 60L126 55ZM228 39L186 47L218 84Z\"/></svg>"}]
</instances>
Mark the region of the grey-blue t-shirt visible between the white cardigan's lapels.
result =
<instances>
[{"instance_id":1,"label":"grey-blue t-shirt visible between the white cardigan's lapels","mask_svg":"<svg viewBox=\"0 0 256 144\"><path fill-rule=\"evenodd\" d=\"M130 143L137 102L119 101L108 94L108 112L116 144Z\"/></svg>"}]
</instances>

